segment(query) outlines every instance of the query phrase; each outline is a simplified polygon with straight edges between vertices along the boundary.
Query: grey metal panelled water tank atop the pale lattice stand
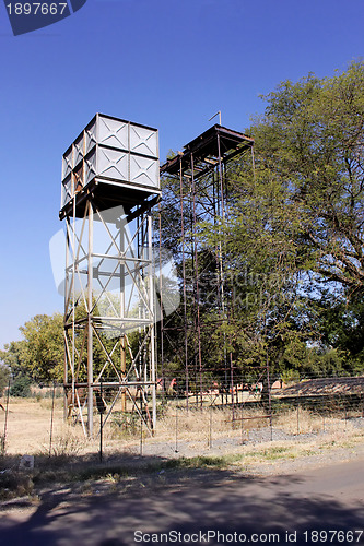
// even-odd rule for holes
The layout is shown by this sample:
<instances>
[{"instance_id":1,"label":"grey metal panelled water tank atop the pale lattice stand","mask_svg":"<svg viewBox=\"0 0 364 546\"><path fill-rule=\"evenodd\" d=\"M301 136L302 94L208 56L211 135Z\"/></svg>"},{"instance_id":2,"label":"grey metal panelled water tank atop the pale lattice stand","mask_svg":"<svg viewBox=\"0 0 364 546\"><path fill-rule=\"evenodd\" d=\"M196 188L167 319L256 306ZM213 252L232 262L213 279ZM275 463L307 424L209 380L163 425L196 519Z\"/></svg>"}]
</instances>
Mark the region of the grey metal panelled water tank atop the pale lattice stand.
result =
<instances>
[{"instance_id":1,"label":"grey metal panelled water tank atop the pale lattice stand","mask_svg":"<svg viewBox=\"0 0 364 546\"><path fill-rule=\"evenodd\" d=\"M157 130L96 114L63 154L61 209L97 178L160 190Z\"/></svg>"}]
</instances>

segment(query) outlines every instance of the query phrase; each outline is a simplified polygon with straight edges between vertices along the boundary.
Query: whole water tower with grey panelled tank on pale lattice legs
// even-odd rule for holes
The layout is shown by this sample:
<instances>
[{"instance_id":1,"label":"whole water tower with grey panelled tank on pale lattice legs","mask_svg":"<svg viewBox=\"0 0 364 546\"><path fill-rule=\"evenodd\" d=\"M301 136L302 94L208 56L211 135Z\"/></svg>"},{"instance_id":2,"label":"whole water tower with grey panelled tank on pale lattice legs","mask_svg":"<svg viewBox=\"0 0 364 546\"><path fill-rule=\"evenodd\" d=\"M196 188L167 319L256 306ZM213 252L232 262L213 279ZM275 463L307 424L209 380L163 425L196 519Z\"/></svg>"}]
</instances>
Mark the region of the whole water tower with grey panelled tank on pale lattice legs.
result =
<instances>
[{"instance_id":1,"label":"whole water tower with grey panelled tank on pale lattice legs","mask_svg":"<svg viewBox=\"0 0 364 546\"><path fill-rule=\"evenodd\" d=\"M66 408L89 436L94 410L105 423L132 408L155 427L151 210L160 198L156 129L96 114L63 154Z\"/></svg>"}]
</instances>

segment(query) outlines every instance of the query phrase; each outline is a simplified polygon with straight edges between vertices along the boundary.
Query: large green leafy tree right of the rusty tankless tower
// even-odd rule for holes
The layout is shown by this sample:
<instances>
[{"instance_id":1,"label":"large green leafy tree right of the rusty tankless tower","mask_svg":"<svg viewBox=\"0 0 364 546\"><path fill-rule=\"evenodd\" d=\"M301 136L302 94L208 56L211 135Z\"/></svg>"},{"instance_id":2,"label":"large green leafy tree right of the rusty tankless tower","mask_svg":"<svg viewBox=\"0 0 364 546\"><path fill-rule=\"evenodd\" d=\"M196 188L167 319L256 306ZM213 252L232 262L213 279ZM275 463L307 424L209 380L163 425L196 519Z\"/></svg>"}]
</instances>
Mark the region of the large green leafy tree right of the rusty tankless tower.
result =
<instances>
[{"instance_id":1,"label":"large green leafy tree right of the rusty tankless tower","mask_svg":"<svg viewBox=\"0 0 364 546\"><path fill-rule=\"evenodd\" d=\"M363 328L352 318L364 296L363 84L362 61L333 78L283 82L246 131L255 163L226 167L228 216L218 230L207 223L203 237L213 247L223 233L236 300L228 339L242 369L332 373L353 364L348 348ZM351 324L345 343L341 330L332 344L327 294Z\"/></svg>"}]
</instances>

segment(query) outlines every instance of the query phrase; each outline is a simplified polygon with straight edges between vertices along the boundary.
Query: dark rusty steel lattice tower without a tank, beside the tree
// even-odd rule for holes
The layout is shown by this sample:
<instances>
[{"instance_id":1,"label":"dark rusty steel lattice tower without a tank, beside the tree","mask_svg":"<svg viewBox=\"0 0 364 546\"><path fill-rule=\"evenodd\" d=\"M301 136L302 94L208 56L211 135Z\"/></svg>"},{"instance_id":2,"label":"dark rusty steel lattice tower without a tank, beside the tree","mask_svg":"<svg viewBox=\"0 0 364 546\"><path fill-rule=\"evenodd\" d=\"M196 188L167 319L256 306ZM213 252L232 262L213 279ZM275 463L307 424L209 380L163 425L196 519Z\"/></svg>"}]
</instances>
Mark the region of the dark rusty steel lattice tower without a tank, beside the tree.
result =
<instances>
[{"instance_id":1,"label":"dark rusty steel lattice tower without a tank, beside the tree","mask_svg":"<svg viewBox=\"0 0 364 546\"><path fill-rule=\"evenodd\" d=\"M174 187L171 206L179 210L178 253L181 272L183 305L179 311L184 324L184 347L176 346L178 335L171 319L162 320L161 324L161 367L164 368L164 348L173 347L176 357L185 369L186 405L190 381L195 381L196 403L202 407L203 376L206 373L202 356L202 334L211 331L211 321L201 316L201 288L208 288L209 297L214 301L218 322L227 323L231 320L232 302L226 300L223 237L213 249L209 260L214 266L214 278L208 278L209 263L201 263L203 245L199 240L200 222L209 222L219 229L228 214L228 166L236 158L246 158L251 154L254 163L254 140L232 129L215 124L184 146L174 157L161 167L161 176L165 180L166 193L169 181ZM160 207L161 209L161 207ZM163 209L163 207L162 207ZM161 209L161 210L162 210ZM164 213L167 223L167 215ZM161 225L161 222L160 222ZM171 228L172 230L173 228ZM160 229L161 230L161 229ZM189 265L189 276L187 275ZM207 289L204 288L207 292ZM162 295L163 296L163 295ZM204 294L207 298L207 294ZM187 299L189 299L192 316L187 316ZM163 300L163 297L162 297ZM221 345L225 345L225 340ZM234 361L232 354L224 354L224 391L234 393ZM227 394L226 394L227 396ZM232 394L234 406L234 396Z\"/></svg>"}]
</instances>

